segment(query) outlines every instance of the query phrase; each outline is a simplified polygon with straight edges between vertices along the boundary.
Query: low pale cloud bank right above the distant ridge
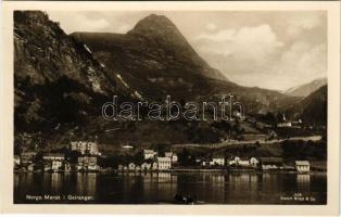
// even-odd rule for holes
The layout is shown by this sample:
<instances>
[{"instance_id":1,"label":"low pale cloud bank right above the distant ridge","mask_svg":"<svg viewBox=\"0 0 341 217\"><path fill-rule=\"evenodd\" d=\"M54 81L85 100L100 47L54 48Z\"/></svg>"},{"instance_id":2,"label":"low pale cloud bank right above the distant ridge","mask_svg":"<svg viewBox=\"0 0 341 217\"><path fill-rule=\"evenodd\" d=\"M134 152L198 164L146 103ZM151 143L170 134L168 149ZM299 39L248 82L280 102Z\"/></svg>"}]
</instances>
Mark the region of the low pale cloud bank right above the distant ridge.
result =
<instances>
[{"instance_id":1,"label":"low pale cloud bank right above the distant ridge","mask_svg":"<svg viewBox=\"0 0 341 217\"><path fill-rule=\"evenodd\" d=\"M236 62L235 62L236 63ZM232 80L245 86L261 86L274 90L286 90L327 75L327 44L296 41L283 50L271 64L255 67L242 62L232 65L228 74ZM230 74L231 68L240 68ZM255 72L251 74L250 72ZM247 72L247 73L243 73Z\"/></svg>"}]
</instances>

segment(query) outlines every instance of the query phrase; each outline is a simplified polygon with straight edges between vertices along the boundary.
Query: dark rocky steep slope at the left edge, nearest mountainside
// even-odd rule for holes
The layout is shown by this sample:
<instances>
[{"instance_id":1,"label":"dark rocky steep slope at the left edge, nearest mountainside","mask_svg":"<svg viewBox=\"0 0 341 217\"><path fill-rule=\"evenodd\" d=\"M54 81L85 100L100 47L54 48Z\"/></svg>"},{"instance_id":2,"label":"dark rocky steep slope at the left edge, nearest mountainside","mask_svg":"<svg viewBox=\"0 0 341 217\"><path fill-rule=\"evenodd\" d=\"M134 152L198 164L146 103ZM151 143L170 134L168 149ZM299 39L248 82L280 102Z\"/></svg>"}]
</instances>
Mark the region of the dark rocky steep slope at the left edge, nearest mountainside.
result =
<instances>
[{"instance_id":1,"label":"dark rocky steep slope at the left edge, nearest mountainside","mask_svg":"<svg viewBox=\"0 0 341 217\"><path fill-rule=\"evenodd\" d=\"M14 12L15 130L86 123L116 90L129 98L81 42L40 11Z\"/></svg>"}]
</instances>

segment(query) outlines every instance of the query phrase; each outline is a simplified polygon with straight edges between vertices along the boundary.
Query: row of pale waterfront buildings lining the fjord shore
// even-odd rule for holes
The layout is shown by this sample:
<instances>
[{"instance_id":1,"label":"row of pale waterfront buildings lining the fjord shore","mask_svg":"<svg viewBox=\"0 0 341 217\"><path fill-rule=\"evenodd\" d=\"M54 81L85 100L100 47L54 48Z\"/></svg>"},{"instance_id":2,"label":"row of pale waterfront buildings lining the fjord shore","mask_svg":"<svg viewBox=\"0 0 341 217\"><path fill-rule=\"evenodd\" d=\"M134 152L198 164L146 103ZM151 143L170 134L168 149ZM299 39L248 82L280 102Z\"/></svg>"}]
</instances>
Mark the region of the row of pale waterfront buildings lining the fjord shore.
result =
<instances>
[{"instance_id":1,"label":"row of pale waterfront buildings lining the fjord shore","mask_svg":"<svg viewBox=\"0 0 341 217\"><path fill-rule=\"evenodd\" d=\"M122 149L130 150L125 145ZM310 173L308 161L294 161L293 166L283 163L282 157L239 157L213 155L197 157L191 165L184 166L181 158L173 151L159 153L152 149L141 149L141 159L123 161L115 165L101 165L105 157L99 151L98 143L92 141L75 141L68 146L71 154L23 152L14 156L15 171L228 171L228 170L281 170ZM40 155L40 156L38 156Z\"/></svg>"}]
</instances>

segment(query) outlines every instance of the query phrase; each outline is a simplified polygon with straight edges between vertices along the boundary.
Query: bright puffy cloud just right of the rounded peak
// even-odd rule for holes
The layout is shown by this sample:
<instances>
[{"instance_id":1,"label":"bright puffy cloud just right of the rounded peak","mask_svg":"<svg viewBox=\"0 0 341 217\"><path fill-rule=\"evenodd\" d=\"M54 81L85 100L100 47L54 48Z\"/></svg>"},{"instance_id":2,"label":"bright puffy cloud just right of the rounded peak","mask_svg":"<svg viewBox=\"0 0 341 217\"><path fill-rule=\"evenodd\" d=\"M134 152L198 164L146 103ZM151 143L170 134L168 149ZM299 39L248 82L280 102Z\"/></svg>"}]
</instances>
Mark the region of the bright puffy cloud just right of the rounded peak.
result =
<instances>
[{"instance_id":1,"label":"bright puffy cloud just right of the rounded peak","mask_svg":"<svg viewBox=\"0 0 341 217\"><path fill-rule=\"evenodd\" d=\"M235 59L253 61L255 64L264 64L283 46L267 24L202 33L195 40L202 52L233 55Z\"/></svg>"}]
</instances>

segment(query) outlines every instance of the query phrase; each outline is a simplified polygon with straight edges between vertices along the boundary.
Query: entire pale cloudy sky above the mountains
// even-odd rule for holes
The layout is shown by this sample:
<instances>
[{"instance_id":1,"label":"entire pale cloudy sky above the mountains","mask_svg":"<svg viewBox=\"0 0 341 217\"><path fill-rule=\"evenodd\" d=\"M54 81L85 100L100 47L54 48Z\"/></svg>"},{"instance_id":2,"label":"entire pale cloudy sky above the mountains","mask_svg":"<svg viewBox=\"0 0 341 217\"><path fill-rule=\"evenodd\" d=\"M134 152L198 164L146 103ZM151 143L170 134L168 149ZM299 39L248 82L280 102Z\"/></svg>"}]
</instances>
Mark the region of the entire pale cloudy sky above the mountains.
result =
<instances>
[{"instance_id":1,"label":"entire pale cloudy sky above the mountains","mask_svg":"<svg viewBox=\"0 0 341 217\"><path fill-rule=\"evenodd\" d=\"M166 15L212 67L248 87L287 90L327 77L325 11L48 11L65 33L125 34Z\"/></svg>"}]
</instances>

